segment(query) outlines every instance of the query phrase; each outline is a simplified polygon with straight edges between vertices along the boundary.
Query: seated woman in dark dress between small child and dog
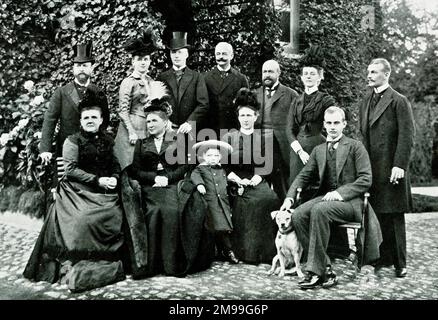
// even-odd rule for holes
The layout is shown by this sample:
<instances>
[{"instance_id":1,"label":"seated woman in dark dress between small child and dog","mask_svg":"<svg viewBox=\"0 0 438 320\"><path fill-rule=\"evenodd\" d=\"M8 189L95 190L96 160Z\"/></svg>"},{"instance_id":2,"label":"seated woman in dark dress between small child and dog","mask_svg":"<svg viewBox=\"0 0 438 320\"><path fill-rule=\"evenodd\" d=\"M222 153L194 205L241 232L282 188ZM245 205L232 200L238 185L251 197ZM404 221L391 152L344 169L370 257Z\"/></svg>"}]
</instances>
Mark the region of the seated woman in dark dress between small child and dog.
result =
<instances>
[{"instance_id":1,"label":"seated woman in dark dress between small child and dog","mask_svg":"<svg viewBox=\"0 0 438 320\"><path fill-rule=\"evenodd\" d=\"M233 250L244 262L270 263L276 254L277 232L270 213L280 200L265 180L270 174L265 170L269 164L261 160L268 148L265 150L260 132L254 130L260 105L255 93L247 88L239 90L235 105L240 130L223 137L233 147L228 179L244 187L243 194L232 201Z\"/></svg>"}]
</instances>

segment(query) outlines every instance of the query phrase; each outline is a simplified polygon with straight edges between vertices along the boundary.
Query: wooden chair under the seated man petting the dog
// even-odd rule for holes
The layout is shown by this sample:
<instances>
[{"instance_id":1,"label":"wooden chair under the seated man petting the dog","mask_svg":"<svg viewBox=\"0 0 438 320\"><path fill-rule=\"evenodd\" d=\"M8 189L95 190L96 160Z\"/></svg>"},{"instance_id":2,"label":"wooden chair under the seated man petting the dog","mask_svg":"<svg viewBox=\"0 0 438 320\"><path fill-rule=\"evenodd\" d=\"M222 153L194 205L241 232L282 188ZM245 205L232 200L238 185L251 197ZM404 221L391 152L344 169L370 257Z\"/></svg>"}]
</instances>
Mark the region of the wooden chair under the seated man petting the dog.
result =
<instances>
[{"instance_id":1,"label":"wooden chair under the seated man petting the dog","mask_svg":"<svg viewBox=\"0 0 438 320\"><path fill-rule=\"evenodd\" d=\"M302 188L297 188L297 195L296 195L296 199L295 199L295 203L294 203L294 208L296 208L300 202L301 202L301 192L303 191ZM359 248L360 250L360 257L361 259L358 258L357 253L358 253L358 248L357 248L357 236L359 234L359 231L364 231L365 229L365 221L366 221L366 215L368 214L368 210L369 210L369 197L370 197L370 193L369 192L365 192L364 193L364 204L363 204L363 210L362 210L362 217L361 217L361 221L360 222L348 222L348 223L343 223L341 225L339 225L339 228L344 228L348 230L351 230L353 232L353 240L351 239L351 237L348 237L348 246L350 248L350 256L348 257L348 259L353 262L356 267L360 270L361 269L361 260L363 260L363 256L364 256L364 249L365 246L364 244L362 244Z\"/></svg>"}]
</instances>

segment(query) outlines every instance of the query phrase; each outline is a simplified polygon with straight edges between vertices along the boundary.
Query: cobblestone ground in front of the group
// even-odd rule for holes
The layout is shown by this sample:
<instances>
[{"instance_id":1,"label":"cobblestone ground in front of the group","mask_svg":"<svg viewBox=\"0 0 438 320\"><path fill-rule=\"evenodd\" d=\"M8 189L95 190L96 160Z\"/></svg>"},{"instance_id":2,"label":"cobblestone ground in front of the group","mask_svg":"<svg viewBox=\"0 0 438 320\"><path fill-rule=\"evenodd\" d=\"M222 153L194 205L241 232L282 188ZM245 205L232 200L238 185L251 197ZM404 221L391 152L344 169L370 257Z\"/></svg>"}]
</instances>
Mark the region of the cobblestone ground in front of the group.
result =
<instances>
[{"instance_id":1,"label":"cobblestone ground in front of the group","mask_svg":"<svg viewBox=\"0 0 438 320\"><path fill-rule=\"evenodd\" d=\"M65 285L32 283L21 275L38 232L0 222L0 299L312 299L388 300L438 299L438 213L407 217L408 276L396 278L392 268L380 277L373 268L361 272L348 260L334 261L339 284L330 289L303 291L297 277L268 276L269 265L215 262L186 278L156 276L125 281L72 294Z\"/></svg>"}]
</instances>

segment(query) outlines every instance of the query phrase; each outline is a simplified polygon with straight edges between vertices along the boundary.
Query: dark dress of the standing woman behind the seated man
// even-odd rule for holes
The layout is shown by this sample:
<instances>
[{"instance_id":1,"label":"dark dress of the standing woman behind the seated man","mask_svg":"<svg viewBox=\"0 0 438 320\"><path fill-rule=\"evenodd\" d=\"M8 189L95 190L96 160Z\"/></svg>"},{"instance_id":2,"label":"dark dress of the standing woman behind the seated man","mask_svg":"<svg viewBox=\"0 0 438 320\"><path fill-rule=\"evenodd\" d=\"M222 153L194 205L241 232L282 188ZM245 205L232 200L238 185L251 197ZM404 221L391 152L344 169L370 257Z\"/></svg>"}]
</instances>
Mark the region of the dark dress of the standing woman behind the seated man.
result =
<instances>
[{"instance_id":1,"label":"dark dress of the standing woman behind the seated man","mask_svg":"<svg viewBox=\"0 0 438 320\"><path fill-rule=\"evenodd\" d=\"M333 97L321 91L315 91L310 95L302 93L295 99L289 109L286 126L289 144L298 140L303 150L310 155L314 147L325 142L325 136L322 134L324 111L333 105ZM303 167L300 157L291 149L289 185Z\"/></svg>"}]
</instances>

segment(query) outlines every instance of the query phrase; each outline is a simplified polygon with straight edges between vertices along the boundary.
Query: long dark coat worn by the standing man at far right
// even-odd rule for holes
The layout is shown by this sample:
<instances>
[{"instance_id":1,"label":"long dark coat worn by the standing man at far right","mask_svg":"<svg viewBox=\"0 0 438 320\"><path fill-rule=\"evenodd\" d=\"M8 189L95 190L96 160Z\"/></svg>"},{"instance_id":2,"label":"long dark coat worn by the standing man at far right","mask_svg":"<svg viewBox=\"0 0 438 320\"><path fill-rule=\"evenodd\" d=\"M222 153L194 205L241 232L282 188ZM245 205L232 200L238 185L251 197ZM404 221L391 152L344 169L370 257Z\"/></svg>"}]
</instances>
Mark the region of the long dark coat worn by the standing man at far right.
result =
<instances>
[{"instance_id":1,"label":"long dark coat worn by the standing man at far right","mask_svg":"<svg viewBox=\"0 0 438 320\"><path fill-rule=\"evenodd\" d=\"M373 170L370 202L378 213L408 212L412 209L409 160L415 124L408 99L389 87L369 115L372 90L359 105L360 131ZM399 167L407 177L399 184L389 182L391 170Z\"/></svg>"}]
</instances>

